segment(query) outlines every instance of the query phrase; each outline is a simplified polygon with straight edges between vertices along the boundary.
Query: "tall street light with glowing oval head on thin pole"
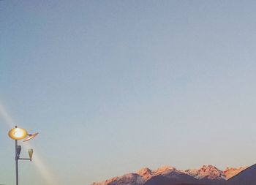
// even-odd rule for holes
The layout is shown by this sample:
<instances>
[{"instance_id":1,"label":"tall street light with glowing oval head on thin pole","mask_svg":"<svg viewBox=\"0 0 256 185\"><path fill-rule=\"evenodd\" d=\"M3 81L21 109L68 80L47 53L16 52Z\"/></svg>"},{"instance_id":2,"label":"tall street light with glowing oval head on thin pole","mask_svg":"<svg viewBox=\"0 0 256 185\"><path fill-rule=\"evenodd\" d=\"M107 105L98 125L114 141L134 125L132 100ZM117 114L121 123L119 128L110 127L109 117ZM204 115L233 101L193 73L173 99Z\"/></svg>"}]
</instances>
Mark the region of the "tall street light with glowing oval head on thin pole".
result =
<instances>
[{"instance_id":1,"label":"tall street light with glowing oval head on thin pole","mask_svg":"<svg viewBox=\"0 0 256 185\"><path fill-rule=\"evenodd\" d=\"M18 160L32 160L32 155L33 155L33 149L29 149L29 158L20 158L20 151L21 151L21 146L18 146L18 140L23 140L23 142L26 142L28 140L31 140L32 138L36 137L38 135L37 133L34 133L33 135L29 135L26 129L19 128L15 126L13 129L10 129L8 133L9 137L12 138L12 140L15 140L15 167L16 167L16 185L19 184L18 182Z\"/></svg>"}]
</instances>

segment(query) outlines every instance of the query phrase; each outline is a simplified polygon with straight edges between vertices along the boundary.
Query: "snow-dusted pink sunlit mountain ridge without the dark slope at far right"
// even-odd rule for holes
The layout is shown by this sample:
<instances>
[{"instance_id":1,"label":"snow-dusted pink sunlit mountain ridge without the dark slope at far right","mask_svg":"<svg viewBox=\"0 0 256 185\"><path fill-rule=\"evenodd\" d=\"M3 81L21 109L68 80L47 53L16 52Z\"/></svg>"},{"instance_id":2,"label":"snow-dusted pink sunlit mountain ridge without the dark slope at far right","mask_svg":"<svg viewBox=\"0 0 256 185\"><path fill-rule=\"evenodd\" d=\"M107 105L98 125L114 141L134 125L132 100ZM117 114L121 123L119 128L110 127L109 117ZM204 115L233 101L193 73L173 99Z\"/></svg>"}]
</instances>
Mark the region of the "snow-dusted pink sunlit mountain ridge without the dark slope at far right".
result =
<instances>
[{"instance_id":1,"label":"snow-dusted pink sunlit mountain ridge without the dark slope at far right","mask_svg":"<svg viewBox=\"0 0 256 185\"><path fill-rule=\"evenodd\" d=\"M153 185L156 182L164 184L224 184L234 175L241 173L247 167L227 167L219 170L214 165L203 165L198 169L177 170L176 167L162 166L157 170L143 167L136 173L127 173L91 185Z\"/></svg>"}]
</instances>

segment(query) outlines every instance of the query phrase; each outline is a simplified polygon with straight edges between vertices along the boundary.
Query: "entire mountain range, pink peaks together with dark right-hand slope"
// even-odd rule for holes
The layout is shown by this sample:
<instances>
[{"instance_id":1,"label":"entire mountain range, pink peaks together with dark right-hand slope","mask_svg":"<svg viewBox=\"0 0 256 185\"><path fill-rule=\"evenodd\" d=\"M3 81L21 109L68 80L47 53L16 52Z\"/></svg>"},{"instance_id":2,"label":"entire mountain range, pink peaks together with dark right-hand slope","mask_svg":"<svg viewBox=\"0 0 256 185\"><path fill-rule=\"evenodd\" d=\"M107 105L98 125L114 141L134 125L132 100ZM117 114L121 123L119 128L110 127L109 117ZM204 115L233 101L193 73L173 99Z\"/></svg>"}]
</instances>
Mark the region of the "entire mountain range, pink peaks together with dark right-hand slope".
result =
<instances>
[{"instance_id":1,"label":"entire mountain range, pink peaks together with dark right-hand slope","mask_svg":"<svg viewBox=\"0 0 256 185\"><path fill-rule=\"evenodd\" d=\"M256 165L251 167L227 167L219 170L213 165L203 165L199 169L177 170L175 167L147 167L136 173L91 185L256 185Z\"/></svg>"}]
</instances>

